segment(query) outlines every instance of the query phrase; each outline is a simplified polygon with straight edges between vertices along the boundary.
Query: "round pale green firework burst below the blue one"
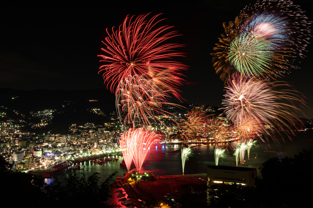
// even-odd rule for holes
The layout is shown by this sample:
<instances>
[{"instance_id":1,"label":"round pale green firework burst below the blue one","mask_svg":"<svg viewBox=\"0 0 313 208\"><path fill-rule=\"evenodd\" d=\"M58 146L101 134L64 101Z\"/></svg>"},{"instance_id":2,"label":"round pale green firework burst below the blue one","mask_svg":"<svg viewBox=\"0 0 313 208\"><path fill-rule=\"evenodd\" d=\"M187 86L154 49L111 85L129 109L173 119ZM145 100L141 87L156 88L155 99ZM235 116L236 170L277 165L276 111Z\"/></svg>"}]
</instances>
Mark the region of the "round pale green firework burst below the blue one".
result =
<instances>
[{"instance_id":1,"label":"round pale green firework burst below the blue one","mask_svg":"<svg viewBox=\"0 0 313 208\"><path fill-rule=\"evenodd\" d=\"M246 32L230 44L228 58L239 72L255 77L269 71L274 56L273 49L270 41Z\"/></svg>"}]
</instances>

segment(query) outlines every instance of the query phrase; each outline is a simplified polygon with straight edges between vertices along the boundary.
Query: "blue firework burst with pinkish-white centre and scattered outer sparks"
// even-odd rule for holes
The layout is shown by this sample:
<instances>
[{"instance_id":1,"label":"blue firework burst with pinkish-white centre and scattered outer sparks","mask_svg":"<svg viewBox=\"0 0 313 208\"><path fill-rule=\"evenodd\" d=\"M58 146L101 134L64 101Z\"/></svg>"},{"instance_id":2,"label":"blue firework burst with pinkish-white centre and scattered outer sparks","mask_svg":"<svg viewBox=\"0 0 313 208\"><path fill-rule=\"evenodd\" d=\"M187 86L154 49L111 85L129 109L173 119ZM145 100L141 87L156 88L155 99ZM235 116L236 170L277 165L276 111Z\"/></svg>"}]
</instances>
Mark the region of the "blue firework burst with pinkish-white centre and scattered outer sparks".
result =
<instances>
[{"instance_id":1,"label":"blue firework burst with pinkish-white centre and scattered outer sparks","mask_svg":"<svg viewBox=\"0 0 313 208\"><path fill-rule=\"evenodd\" d=\"M289 0L262 0L246 6L241 13L251 14L242 31L255 36L267 37L276 45L292 50L293 56L302 57L302 51L310 39L308 17Z\"/></svg>"}]
</instances>

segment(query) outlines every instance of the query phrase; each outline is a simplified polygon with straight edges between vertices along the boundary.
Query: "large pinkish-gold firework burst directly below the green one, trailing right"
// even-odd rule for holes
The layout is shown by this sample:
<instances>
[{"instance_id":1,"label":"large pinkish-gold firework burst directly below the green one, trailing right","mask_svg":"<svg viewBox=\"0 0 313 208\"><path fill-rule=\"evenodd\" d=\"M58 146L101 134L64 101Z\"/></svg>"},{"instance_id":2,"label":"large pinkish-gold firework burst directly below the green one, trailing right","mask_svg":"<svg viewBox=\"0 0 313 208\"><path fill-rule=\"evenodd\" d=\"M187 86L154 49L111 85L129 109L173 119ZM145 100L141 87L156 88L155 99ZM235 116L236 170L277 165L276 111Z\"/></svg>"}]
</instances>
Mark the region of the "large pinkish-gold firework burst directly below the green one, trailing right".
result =
<instances>
[{"instance_id":1,"label":"large pinkish-gold firework burst directly below the green one, trailing right","mask_svg":"<svg viewBox=\"0 0 313 208\"><path fill-rule=\"evenodd\" d=\"M226 99L222 102L222 109L235 126L245 122L248 116L249 119L259 122L262 133L271 135L271 130L282 135L301 123L292 113L301 112L294 106L295 102L301 102L299 93L294 90L278 90L288 85L256 78L248 79L243 74L236 74L233 78L231 84L225 87Z\"/></svg>"}]
</instances>

